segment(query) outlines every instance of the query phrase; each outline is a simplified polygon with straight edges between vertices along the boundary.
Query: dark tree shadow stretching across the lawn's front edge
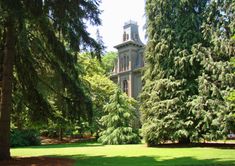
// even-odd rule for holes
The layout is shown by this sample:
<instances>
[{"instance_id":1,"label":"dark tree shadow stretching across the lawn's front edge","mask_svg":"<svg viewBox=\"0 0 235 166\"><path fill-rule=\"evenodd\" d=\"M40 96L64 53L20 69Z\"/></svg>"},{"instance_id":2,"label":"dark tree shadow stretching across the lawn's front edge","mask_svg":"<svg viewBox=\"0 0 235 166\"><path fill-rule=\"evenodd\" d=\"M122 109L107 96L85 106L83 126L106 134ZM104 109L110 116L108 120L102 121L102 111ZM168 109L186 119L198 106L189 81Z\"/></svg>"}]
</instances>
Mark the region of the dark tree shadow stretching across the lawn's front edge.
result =
<instances>
[{"instance_id":1,"label":"dark tree shadow stretching across the lawn's front edge","mask_svg":"<svg viewBox=\"0 0 235 166\"><path fill-rule=\"evenodd\" d=\"M235 166L235 159L222 161L219 158L196 159L193 157L170 158L166 156L169 159L160 159L160 157L151 156L107 157L86 155L73 155L66 157L75 159L75 166Z\"/></svg>"}]
</instances>

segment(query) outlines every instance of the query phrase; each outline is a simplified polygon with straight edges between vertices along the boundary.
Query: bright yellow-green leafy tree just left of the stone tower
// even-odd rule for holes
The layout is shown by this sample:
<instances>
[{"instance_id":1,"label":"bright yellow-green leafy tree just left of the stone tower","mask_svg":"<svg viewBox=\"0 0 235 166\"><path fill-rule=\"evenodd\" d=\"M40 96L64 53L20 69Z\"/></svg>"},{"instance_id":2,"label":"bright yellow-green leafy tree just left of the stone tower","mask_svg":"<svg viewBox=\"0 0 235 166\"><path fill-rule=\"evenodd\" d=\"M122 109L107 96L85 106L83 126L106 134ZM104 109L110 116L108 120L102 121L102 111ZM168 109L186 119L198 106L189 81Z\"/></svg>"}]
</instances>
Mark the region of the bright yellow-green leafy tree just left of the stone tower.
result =
<instances>
[{"instance_id":1,"label":"bright yellow-green leafy tree just left of the stone tower","mask_svg":"<svg viewBox=\"0 0 235 166\"><path fill-rule=\"evenodd\" d=\"M90 54L83 54L79 58L79 64L82 64L85 71L83 79L88 83L90 88L90 96L93 103L91 131L96 137L98 137L102 129L100 118L105 115L104 106L109 102L110 96L118 88L107 76L107 62L103 61L105 56L102 57L102 62L92 58ZM110 63L107 65L110 65Z\"/></svg>"}]
</instances>

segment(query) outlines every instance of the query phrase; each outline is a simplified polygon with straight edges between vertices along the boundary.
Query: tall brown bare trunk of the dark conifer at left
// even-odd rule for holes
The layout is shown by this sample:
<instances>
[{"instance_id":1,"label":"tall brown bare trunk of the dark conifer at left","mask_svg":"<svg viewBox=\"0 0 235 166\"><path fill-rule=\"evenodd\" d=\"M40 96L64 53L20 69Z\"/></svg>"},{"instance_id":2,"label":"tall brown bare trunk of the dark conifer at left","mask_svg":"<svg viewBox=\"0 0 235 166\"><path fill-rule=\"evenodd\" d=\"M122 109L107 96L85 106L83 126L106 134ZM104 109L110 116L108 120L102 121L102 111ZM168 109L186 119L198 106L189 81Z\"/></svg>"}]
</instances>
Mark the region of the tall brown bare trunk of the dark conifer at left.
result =
<instances>
[{"instance_id":1,"label":"tall brown bare trunk of the dark conifer at left","mask_svg":"<svg viewBox=\"0 0 235 166\"><path fill-rule=\"evenodd\" d=\"M0 104L0 160L10 159L10 112L12 109L12 80L15 58L15 26L12 16L6 22L4 48L2 103Z\"/></svg>"}]
</instances>

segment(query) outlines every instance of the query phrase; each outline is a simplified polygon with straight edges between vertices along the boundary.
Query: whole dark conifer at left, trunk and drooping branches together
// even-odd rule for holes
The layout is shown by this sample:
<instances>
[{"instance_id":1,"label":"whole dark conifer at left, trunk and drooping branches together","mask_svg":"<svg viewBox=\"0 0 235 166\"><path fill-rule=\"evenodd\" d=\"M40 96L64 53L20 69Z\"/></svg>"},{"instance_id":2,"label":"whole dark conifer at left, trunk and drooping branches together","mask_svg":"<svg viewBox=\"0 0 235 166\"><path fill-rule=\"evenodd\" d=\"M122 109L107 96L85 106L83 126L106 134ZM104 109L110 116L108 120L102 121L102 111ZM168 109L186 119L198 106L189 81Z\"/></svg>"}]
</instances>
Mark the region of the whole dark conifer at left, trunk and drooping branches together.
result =
<instances>
[{"instance_id":1,"label":"whole dark conifer at left, trunk and drooping branches together","mask_svg":"<svg viewBox=\"0 0 235 166\"><path fill-rule=\"evenodd\" d=\"M43 84L67 102L67 115L90 116L91 100L81 80L77 51L97 51L101 47L86 31L86 21L99 25L99 0L1 0L0 55L3 97L0 105L0 160L9 159L12 80L16 78L34 121L53 116ZM66 45L65 45L66 43ZM63 78L66 89L55 91L43 80L46 69ZM13 75L13 69L15 73ZM53 72L52 72L53 73ZM63 111L63 110L62 110ZM4 134L3 134L4 133Z\"/></svg>"}]
</instances>

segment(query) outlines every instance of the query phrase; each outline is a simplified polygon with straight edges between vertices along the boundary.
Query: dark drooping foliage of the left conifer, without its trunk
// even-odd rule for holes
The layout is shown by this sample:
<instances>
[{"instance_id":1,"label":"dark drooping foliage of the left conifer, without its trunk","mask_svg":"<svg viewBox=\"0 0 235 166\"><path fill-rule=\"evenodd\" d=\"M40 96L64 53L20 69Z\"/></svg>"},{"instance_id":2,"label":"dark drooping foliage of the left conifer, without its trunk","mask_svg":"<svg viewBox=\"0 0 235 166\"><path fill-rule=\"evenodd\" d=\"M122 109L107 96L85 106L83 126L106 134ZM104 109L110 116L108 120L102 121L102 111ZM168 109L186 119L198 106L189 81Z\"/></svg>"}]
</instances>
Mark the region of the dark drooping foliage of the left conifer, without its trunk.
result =
<instances>
[{"instance_id":1,"label":"dark drooping foliage of the left conifer, without its trunk","mask_svg":"<svg viewBox=\"0 0 235 166\"><path fill-rule=\"evenodd\" d=\"M76 52L100 51L102 47L89 36L85 24L86 20L92 25L101 23L99 3L99 0L1 1L0 10L5 13L1 22L13 13L16 25L14 83L24 105L32 110L29 115L34 122L54 118L54 108L48 102L48 95L52 94L66 103L67 109L60 110L63 116L91 116L91 99L81 80L82 68L77 64ZM1 26L3 29L4 24ZM4 41L2 32L1 38ZM56 83L60 84L60 91Z\"/></svg>"}]
</instances>

